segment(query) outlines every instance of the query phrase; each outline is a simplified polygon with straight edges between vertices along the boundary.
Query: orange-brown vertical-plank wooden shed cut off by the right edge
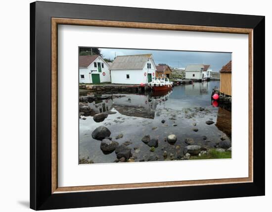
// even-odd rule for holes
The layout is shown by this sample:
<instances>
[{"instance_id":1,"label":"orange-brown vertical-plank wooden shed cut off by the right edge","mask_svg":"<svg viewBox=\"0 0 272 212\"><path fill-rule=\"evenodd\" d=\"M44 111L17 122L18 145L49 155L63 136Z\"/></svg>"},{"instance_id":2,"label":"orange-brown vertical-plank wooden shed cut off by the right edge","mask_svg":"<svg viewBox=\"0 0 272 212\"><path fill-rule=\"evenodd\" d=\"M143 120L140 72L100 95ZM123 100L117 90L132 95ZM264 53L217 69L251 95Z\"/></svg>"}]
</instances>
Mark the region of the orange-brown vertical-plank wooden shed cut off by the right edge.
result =
<instances>
[{"instance_id":1,"label":"orange-brown vertical-plank wooden shed cut off by the right edge","mask_svg":"<svg viewBox=\"0 0 272 212\"><path fill-rule=\"evenodd\" d=\"M231 60L220 70L220 92L231 96Z\"/></svg>"}]
</instances>

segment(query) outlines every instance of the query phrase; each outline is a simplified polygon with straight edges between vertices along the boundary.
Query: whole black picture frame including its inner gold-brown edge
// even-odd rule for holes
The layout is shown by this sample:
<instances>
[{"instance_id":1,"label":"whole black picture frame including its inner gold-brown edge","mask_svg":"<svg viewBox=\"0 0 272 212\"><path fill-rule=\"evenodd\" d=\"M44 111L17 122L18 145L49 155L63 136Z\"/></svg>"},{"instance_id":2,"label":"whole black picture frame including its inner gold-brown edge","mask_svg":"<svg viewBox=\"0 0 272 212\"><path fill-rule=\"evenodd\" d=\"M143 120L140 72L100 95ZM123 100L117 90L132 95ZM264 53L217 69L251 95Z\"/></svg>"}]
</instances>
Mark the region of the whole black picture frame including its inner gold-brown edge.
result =
<instances>
[{"instance_id":1,"label":"whole black picture frame including its inner gold-brown edge","mask_svg":"<svg viewBox=\"0 0 272 212\"><path fill-rule=\"evenodd\" d=\"M169 12L162 9L42 1L30 4L31 209L49 210L265 195L265 17L176 10L171 10L169 15ZM58 187L59 24L248 34L249 177ZM104 201L105 199L107 201Z\"/></svg>"}]
</instances>

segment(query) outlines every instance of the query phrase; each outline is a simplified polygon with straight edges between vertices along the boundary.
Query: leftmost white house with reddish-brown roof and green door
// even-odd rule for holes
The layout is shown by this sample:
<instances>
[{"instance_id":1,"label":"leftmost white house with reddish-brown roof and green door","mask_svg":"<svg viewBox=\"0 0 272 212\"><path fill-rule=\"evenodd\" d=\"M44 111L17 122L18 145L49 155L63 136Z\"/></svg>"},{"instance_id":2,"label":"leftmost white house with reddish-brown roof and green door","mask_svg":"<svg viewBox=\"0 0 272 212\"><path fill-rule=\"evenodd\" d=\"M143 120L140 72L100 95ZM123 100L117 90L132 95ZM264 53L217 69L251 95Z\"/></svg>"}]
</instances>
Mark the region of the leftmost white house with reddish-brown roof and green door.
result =
<instances>
[{"instance_id":1,"label":"leftmost white house with reddish-brown roof and green door","mask_svg":"<svg viewBox=\"0 0 272 212\"><path fill-rule=\"evenodd\" d=\"M109 65L100 55L79 56L79 83L110 82Z\"/></svg>"}]
</instances>

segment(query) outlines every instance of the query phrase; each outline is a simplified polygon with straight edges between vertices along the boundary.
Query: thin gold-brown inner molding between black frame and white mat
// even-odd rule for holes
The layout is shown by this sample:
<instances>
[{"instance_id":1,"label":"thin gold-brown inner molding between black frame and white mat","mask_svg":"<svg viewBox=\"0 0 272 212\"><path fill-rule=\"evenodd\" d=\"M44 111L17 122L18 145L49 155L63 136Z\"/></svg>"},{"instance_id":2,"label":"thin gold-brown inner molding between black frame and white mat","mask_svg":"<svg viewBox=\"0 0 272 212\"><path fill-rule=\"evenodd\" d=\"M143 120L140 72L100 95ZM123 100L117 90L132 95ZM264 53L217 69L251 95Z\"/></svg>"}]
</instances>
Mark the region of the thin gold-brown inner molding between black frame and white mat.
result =
<instances>
[{"instance_id":1,"label":"thin gold-brown inner molding between black frame and white mat","mask_svg":"<svg viewBox=\"0 0 272 212\"><path fill-rule=\"evenodd\" d=\"M217 33L235 33L248 35L249 47L249 173L244 178L227 179L209 179L209 180L188 180L171 182L151 182L151 183L130 183L113 185L95 185L95 186L73 186L58 187L57 182L57 26L64 25L82 25L99 27L119 27L119 28L137 28L137 29L159 29L159 30L177 30L177 31L196 31L196 32L217 32ZM152 187L177 187L194 186L208 184L226 184L226 183L245 183L253 182L253 29L245 28L227 28L227 27L207 27L207 26L189 26L177 24L158 24L158 23L139 23L123 21L104 21L104 20L84 20L68 18L51 18L51 193L60 192L80 192L80 191L98 191L98 190L117 190L117 189L139 189Z\"/></svg>"}]
</instances>

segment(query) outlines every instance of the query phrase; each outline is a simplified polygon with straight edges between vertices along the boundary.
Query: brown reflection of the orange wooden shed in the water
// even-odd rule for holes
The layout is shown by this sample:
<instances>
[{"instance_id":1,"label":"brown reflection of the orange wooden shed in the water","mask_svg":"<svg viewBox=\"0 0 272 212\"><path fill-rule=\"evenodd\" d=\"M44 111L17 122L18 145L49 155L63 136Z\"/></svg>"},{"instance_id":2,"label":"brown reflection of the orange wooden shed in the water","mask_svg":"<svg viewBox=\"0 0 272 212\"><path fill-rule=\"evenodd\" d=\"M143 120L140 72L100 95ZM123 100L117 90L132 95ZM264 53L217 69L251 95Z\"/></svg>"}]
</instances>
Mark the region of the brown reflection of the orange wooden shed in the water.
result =
<instances>
[{"instance_id":1,"label":"brown reflection of the orange wooden shed in the water","mask_svg":"<svg viewBox=\"0 0 272 212\"><path fill-rule=\"evenodd\" d=\"M231 138L231 111L228 111L223 107L218 107L216 126Z\"/></svg>"}]
</instances>

